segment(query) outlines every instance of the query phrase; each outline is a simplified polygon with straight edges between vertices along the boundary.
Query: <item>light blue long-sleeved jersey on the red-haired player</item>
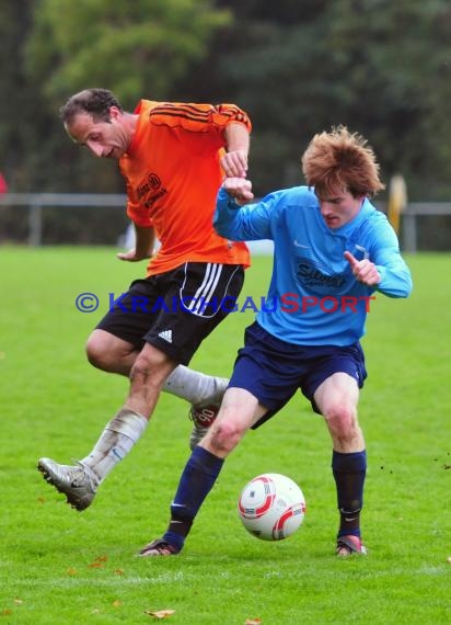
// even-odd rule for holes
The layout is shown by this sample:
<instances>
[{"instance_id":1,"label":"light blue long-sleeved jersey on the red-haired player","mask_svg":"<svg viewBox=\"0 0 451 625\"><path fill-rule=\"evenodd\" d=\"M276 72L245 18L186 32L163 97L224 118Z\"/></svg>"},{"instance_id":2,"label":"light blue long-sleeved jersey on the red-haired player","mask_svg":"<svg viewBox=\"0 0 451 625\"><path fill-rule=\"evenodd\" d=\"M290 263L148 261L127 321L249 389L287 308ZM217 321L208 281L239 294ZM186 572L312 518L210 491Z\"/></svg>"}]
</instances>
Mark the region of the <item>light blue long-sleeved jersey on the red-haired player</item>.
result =
<instances>
[{"instance_id":1,"label":"light blue long-sleeved jersey on the red-haired player","mask_svg":"<svg viewBox=\"0 0 451 625\"><path fill-rule=\"evenodd\" d=\"M365 200L357 216L331 229L314 191L297 186L240 207L221 189L215 228L233 241L271 239L274 265L258 323L300 345L349 345L365 333L374 291L407 297L410 272L385 215ZM382 277L375 287L358 282L345 251L368 258Z\"/></svg>"}]
</instances>

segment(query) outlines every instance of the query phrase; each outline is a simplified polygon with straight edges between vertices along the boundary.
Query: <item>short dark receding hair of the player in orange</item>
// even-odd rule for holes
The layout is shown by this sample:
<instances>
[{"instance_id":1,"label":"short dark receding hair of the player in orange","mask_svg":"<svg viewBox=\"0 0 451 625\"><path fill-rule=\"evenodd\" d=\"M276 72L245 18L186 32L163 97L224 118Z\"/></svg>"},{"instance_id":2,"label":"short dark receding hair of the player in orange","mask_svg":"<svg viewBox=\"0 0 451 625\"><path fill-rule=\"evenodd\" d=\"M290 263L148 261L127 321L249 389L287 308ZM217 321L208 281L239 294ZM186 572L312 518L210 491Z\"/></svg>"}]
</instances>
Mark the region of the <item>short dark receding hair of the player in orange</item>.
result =
<instances>
[{"instance_id":1,"label":"short dark receding hair of the player in orange","mask_svg":"<svg viewBox=\"0 0 451 625\"><path fill-rule=\"evenodd\" d=\"M107 89L84 89L69 98L59 110L59 116L65 124L69 125L80 113L88 113L96 122L109 122L109 109L112 106L117 106L119 111L123 111L119 101L112 91Z\"/></svg>"}]
</instances>

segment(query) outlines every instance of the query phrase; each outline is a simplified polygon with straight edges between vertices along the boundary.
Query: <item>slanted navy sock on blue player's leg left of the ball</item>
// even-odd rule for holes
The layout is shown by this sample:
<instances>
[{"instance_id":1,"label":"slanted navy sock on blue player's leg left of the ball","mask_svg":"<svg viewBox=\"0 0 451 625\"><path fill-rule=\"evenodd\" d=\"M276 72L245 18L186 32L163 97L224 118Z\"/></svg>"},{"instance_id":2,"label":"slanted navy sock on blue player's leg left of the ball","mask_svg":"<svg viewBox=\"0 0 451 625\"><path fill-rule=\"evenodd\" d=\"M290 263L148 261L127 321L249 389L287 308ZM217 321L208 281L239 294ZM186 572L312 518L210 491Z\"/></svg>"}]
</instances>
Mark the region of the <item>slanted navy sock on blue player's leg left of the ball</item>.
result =
<instances>
[{"instance_id":1,"label":"slanted navy sock on blue player's leg left of the ball","mask_svg":"<svg viewBox=\"0 0 451 625\"><path fill-rule=\"evenodd\" d=\"M178 550L182 549L193 521L210 492L224 461L204 447L195 447L183 470L178 488L171 504L171 522L163 536Z\"/></svg>"}]
</instances>

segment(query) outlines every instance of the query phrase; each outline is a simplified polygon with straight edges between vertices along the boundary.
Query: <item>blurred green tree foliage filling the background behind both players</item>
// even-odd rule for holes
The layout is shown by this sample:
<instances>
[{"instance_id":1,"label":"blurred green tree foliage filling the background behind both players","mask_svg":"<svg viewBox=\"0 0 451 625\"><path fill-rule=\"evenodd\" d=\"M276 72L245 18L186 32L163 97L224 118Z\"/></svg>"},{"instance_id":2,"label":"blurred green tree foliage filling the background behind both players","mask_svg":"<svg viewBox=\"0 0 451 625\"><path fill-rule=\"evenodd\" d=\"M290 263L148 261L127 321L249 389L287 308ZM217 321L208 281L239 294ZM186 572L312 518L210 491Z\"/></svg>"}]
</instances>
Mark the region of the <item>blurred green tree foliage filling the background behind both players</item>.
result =
<instances>
[{"instance_id":1,"label":"blurred green tree foliage filling the background behind both players","mask_svg":"<svg viewBox=\"0 0 451 625\"><path fill-rule=\"evenodd\" d=\"M409 200L447 201L450 70L449 0L4 0L0 170L11 191L122 192L58 120L100 86L128 110L142 96L242 105L259 195L301 181L311 136L347 124Z\"/></svg>"}]
</instances>

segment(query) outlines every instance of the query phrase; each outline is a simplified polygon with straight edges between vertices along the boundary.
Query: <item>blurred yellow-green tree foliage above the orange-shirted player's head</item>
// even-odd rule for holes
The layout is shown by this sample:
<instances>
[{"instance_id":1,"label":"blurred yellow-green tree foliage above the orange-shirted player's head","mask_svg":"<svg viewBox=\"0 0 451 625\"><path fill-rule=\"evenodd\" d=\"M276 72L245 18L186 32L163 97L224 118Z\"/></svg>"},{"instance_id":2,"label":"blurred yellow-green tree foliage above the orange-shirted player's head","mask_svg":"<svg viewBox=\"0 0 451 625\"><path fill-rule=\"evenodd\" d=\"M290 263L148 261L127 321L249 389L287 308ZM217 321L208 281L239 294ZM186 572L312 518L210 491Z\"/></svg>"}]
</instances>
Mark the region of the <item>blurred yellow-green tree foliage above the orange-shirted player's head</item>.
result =
<instances>
[{"instance_id":1,"label":"blurred yellow-green tree foliage above the orange-shirted player's head","mask_svg":"<svg viewBox=\"0 0 451 625\"><path fill-rule=\"evenodd\" d=\"M41 0L26 66L50 100L88 86L130 103L139 94L169 99L230 19L210 0Z\"/></svg>"}]
</instances>

